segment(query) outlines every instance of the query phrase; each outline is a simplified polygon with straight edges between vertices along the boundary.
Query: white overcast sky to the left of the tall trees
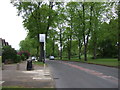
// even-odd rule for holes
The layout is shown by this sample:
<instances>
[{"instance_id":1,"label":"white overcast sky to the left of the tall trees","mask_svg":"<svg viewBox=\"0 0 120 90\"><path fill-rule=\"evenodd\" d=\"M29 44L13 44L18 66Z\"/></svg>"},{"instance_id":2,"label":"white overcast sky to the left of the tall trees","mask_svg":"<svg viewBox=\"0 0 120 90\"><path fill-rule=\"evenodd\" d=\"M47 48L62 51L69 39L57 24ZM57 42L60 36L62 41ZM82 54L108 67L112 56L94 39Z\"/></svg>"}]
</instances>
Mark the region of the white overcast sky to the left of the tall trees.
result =
<instances>
[{"instance_id":1,"label":"white overcast sky to the left of the tall trees","mask_svg":"<svg viewBox=\"0 0 120 90\"><path fill-rule=\"evenodd\" d=\"M16 50L19 49L19 42L27 35L22 21L10 0L0 1L0 38L5 39Z\"/></svg>"}]
</instances>

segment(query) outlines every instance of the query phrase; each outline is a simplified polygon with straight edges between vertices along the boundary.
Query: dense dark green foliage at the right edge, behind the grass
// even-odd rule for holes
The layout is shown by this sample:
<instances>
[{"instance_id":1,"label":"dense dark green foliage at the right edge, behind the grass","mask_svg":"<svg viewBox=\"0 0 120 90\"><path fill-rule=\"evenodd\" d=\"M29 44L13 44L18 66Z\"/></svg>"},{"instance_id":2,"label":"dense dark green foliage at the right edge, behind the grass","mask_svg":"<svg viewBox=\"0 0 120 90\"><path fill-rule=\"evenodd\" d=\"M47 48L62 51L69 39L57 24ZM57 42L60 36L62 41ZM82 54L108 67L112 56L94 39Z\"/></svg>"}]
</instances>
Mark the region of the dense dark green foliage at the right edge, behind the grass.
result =
<instances>
[{"instance_id":1,"label":"dense dark green foliage at the right edge, behind the grass","mask_svg":"<svg viewBox=\"0 0 120 90\"><path fill-rule=\"evenodd\" d=\"M92 35L90 39L89 52L92 54L96 40L98 57L117 57L117 28L117 19L111 19L109 23L102 23L96 30L96 36Z\"/></svg>"}]
</instances>

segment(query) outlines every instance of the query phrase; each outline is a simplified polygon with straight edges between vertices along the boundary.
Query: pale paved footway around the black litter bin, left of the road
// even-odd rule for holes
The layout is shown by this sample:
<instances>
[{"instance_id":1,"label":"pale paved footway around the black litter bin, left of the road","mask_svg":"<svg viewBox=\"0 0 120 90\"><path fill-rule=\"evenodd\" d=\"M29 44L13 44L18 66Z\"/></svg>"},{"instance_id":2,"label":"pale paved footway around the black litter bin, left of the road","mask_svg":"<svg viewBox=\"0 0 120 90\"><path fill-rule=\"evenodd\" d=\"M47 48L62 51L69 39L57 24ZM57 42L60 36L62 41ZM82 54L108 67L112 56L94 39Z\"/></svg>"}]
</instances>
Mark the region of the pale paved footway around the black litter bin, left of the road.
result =
<instances>
[{"instance_id":1,"label":"pale paved footway around the black litter bin, left of the road","mask_svg":"<svg viewBox=\"0 0 120 90\"><path fill-rule=\"evenodd\" d=\"M27 62L4 65L2 87L54 88L49 67L34 65L34 70L26 70Z\"/></svg>"}]
</instances>

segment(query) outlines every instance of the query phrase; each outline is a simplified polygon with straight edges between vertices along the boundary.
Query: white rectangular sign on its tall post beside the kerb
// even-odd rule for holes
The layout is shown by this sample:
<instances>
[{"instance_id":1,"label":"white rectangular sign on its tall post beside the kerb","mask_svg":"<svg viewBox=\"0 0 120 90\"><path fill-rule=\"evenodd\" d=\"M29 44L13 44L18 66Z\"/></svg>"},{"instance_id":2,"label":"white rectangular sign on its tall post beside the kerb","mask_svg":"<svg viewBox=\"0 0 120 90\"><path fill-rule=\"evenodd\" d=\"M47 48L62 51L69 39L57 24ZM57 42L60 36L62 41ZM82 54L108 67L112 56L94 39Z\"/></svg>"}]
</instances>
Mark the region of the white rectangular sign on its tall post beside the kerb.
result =
<instances>
[{"instance_id":1,"label":"white rectangular sign on its tall post beside the kerb","mask_svg":"<svg viewBox=\"0 0 120 90\"><path fill-rule=\"evenodd\" d=\"M39 34L40 41L40 58L39 61L45 63L45 34Z\"/></svg>"}]
</instances>

